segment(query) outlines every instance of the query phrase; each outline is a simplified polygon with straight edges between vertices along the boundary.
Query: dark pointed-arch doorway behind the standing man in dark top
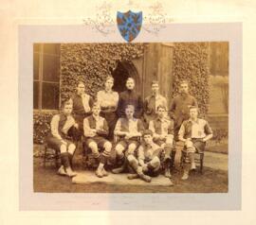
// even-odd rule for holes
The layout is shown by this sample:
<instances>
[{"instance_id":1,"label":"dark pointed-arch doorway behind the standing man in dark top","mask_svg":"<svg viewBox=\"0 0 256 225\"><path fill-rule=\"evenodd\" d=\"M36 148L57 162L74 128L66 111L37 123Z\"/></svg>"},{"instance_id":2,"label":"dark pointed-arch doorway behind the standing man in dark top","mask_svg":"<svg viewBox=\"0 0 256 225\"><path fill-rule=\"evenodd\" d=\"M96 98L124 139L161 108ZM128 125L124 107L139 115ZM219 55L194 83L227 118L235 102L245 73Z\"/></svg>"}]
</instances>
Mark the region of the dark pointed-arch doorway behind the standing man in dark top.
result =
<instances>
[{"instance_id":1,"label":"dark pointed-arch doorway behind the standing man in dark top","mask_svg":"<svg viewBox=\"0 0 256 225\"><path fill-rule=\"evenodd\" d=\"M123 92L126 90L125 83L127 78L134 78L136 81L135 91L141 94L141 81L137 74L137 69L133 62L119 61L116 69L112 71L115 80L113 90Z\"/></svg>"}]
</instances>

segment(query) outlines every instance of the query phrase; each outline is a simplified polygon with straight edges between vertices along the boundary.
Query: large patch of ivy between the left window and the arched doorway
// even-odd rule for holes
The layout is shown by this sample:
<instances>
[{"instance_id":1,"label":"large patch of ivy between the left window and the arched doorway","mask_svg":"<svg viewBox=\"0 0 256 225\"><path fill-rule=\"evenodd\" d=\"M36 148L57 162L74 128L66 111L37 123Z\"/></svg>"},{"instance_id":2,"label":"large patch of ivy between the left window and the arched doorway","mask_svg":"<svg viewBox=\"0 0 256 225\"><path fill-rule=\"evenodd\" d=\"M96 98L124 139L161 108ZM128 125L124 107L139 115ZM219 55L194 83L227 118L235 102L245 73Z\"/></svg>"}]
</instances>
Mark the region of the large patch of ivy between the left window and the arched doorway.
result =
<instances>
[{"instance_id":1,"label":"large patch of ivy between the left window and the arched doorway","mask_svg":"<svg viewBox=\"0 0 256 225\"><path fill-rule=\"evenodd\" d=\"M143 43L64 43L61 45L61 98L74 93L78 80L86 93L96 95L118 61L132 61L143 55Z\"/></svg>"}]
</instances>

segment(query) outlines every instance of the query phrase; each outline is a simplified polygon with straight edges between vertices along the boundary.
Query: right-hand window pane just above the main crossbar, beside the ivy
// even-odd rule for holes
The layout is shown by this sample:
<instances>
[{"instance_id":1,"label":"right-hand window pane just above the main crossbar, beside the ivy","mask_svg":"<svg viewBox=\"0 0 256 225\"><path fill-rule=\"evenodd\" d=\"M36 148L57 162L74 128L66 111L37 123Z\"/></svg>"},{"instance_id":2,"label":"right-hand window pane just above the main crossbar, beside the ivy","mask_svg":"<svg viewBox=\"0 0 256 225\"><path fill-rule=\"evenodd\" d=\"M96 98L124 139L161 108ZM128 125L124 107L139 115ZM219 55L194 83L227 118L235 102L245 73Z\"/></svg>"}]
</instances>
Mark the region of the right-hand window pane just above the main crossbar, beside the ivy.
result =
<instances>
[{"instance_id":1,"label":"right-hand window pane just above the main crossbar, beside the ivy","mask_svg":"<svg viewBox=\"0 0 256 225\"><path fill-rule=\"evenodd\" d=\"M43 80L60 81L60 58L56 56L44 55Z\"/></svg>"}]
</instances>

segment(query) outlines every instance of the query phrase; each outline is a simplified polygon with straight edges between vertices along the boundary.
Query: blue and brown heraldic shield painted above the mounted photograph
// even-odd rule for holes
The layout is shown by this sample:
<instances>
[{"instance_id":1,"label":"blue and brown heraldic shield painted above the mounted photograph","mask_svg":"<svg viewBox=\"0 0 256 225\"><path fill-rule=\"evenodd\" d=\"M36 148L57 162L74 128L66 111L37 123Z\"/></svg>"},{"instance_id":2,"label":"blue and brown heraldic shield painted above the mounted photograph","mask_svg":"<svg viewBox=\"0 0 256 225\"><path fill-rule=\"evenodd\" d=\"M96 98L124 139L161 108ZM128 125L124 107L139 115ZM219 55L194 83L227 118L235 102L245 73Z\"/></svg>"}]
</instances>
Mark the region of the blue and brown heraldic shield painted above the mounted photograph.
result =
<instances>
[{"instance_id":1,"label":"blue and brown heraldic shield painted above the mounted photograph","mask_svg":"<svg viewBox=\"0 0 256 225\"><path fill-rule=\"evenodd\" d=\"M142 11L118 11L117 22L121 36L130 43L137 37L142 26Z\"/></svg>"}]
</instances>

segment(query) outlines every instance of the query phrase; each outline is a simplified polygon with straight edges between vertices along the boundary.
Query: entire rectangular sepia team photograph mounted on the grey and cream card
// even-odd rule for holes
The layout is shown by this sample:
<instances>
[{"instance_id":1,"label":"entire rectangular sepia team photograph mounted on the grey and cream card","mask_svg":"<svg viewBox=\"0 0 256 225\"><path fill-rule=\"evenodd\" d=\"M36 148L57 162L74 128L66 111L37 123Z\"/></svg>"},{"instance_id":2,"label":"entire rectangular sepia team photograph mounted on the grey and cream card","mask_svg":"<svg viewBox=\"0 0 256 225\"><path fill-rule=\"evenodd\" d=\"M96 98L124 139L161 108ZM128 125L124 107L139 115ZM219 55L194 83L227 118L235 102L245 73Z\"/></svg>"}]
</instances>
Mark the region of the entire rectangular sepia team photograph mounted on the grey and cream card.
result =
<instances>
[{"instance_id":1,"label":"entire rectangular sepia team photograph mounted on the grey and cream card","mask_svg":"<svg viewBox=\"0 0 256 225\"><path fill-rule=\"evenodd\" d=\"M228 193L229 42L33 43L35 193Z\"/></svg>"}]
</instances>

